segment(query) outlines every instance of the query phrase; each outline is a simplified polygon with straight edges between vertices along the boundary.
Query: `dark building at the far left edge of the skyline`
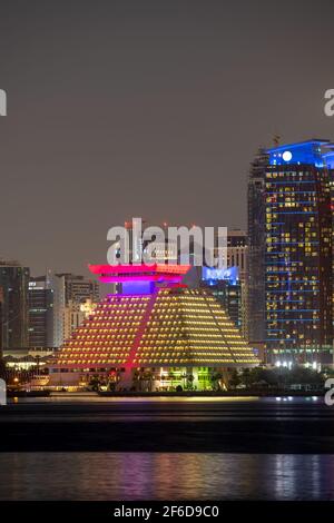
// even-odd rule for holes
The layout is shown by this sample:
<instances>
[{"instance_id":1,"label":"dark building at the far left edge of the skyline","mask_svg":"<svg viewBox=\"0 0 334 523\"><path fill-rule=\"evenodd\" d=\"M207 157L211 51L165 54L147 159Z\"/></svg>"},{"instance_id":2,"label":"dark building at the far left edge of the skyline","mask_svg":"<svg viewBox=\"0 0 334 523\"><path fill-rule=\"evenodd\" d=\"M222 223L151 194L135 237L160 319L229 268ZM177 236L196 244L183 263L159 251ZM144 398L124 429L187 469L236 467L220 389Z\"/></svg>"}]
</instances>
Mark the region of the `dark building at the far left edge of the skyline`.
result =
<instances>
[{"instance_id":1,"label":"dark building at the far left edge of the skyline","mask_svg":"<svg viewBox=\"0 0 334 523\"><path fill-rule=\"evenodd\" d=\"M0 260L2 349L28 346L30 273L18 262Z\"/></svg>"}]
</instances>

